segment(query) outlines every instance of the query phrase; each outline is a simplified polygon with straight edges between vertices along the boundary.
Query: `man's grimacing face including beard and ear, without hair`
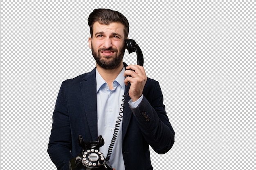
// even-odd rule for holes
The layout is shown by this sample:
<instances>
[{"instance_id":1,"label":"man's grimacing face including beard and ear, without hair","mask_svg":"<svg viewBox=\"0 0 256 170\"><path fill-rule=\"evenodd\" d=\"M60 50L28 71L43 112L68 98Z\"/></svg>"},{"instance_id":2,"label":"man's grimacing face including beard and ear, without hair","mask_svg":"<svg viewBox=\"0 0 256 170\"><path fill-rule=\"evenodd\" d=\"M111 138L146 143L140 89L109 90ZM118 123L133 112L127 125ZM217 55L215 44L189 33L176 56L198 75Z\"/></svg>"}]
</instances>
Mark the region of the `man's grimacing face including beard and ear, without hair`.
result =
<instances>
[{"instance_id":1,"label":"man's grimacing face including beard and ear, without hair","mask_svg":"<svg viewBox=\"0 0 256 170\"><path fill-rule=\"evenodd\" d=\"M109 25L93 24L93 35L89 38L89 47L98 66L104 69L118 68L123 60L124 25L112 22Z\"/></svg>"}]
</instances>

